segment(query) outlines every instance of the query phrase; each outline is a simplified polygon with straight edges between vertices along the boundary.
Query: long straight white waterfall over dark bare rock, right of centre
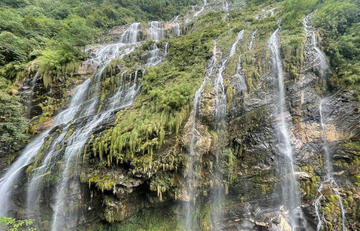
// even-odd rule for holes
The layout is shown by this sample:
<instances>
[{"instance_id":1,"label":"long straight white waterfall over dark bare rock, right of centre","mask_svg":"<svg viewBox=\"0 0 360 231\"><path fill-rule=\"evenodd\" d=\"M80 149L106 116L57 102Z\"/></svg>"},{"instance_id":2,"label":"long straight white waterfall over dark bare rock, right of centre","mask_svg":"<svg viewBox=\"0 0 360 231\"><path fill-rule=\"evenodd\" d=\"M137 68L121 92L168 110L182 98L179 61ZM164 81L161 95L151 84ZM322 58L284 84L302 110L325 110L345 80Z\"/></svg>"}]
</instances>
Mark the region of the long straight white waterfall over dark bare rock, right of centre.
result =
<instances>
[{"instance_id":1,"label":"long straight white waterfall over dark bare rock, right of centre","mask_svg":"<svg viewBox=\"0 0 360 231\"><path fill-rule=\"evenodd\" d=\"M287 114L285 112L285 86L283 78L283 66L279 51L279 29L271 35L269 39L269 47L272 52L273 68L278 76L279 84L279 106L275 112L276 115L276 126L278 130L279 144L280 144L280 155L284 158L283 165L279 167L279 171L284 177L282 183L283 189L283 201L286 210L289 210L289 220L291 221L292 230L296 230L297 227L297 216L296 208L300 205L299 193L296 186L296 178L294 175L293 166L293 153L292 145L290 142L288 125L285 121Z\"/></svg>"}]
</instances>

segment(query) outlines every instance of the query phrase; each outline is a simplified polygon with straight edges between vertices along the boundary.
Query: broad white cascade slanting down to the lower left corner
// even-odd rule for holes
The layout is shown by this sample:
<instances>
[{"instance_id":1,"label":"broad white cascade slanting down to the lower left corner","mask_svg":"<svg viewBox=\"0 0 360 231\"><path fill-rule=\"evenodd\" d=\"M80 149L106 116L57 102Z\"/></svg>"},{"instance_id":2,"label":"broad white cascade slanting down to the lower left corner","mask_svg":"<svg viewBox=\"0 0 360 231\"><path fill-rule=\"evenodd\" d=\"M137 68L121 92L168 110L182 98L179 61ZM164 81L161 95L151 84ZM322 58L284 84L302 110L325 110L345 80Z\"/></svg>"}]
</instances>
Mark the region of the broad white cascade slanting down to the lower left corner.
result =
<instances>
[{"instance_id":1,"label":"broad white cascade slanting down to the lower left corner","mask_svg":"<svg viewBox=\"0 0 360 231\"><path fill-rule=\"evenodd\" d=\"M132 28L132 29L131 29ZM132 31L134 34L136 30L133 30L134 27L129 28L129 31ZM130 36L134 38L135 36ZM130 40L129 40L130 41ZM138 46L136 44L135 46ZM38 137L31 140L29 144L23 149L23 151L19 154L18 158L12 163L12 165L5 171L5 174L0 179L0 215L6 215L8 213L8 209L10 208L10 197L13 194L13 184L17 182L18 177L23 174L24 167L28 166L36 156L36 154L41 150L42 145L44 144L44 138L48 135L49 131L53 129L55 126L59 124L66 124L71 121L74 117L81 117L81 116L89 116L95 113L95 106L98 102L97 94L99 89L99 82L102 78L102 72L105 66L110 63L111 60L115 58L122 58L125 54L129 54L131 51L135 49L135 46L129 47L123 43L111 44L111 45L103 45L96 47L93 52L90 52L91 59L85 61L82 64L81 68L91 68L96 69L98 66L101 66L100 69L96 72L92 82L95 86L91 86L90 79L87 79L84 83L80 84L75 89L75 93L72 97L71 103L69 107L60 112L59 115L55 118L54 124L46 131L42 132ZM136 82L136 81L134 81ZM35 85L35 84L33 84ZM33 86L32 85L32 86ZM135 89L140 89L139 85L135 85ZM130 89L130 87L129 87ZM92 93L95 97L92 97ZM131 100L127 103L131 102L135 97L136 93L133 91L128 91L127 94L123 94L124 97L127 99L130 98ZM121 105L120 105L121 106ZM119 106L119 107L120 107ZM100 123L100 122L99 122ZM93 123L96 124L96 123ZM64 139L64 135L67 134L67 130L69 130L69 126L66 126L63 129L63 133L59 135L56 140L53 140L52 143L60 146L64 145L64 142L67 140ZM90 132L90 131L89 131ZM84 133L85 134L85 133ZM74 137L74 136L72 136ZM82 136L84 137L84 136ZM79 138L80 139L80 138ZM73 141L73 140L71 140ZM80 144L79 140L73 141L73 143ZM55 148L55 147L53 147ZM72 144L69 144L67 150L72 148ZM82 148L82 147L79 147ZM69 154L69 160L64 157L64 160L70 161L70 156L72 152L67 152ZM28 198L27 198L27 208L26 211L28 214L34 212L32 209L36 207L37 203L39 203L39 198L41 195L41 191L38 187L38 184L41 182L42 178L46 175L46 172L51 169L50 161L52 158L57 156L59 153L57 150L50 150L49 153L44 158L44 161L41 166L36 168L35 170L31 171L31 179L29 179L29 186L28 186ZM65 166L66 167L66 166ZM66 170L67 171L67 170ZM66 176L66 171L64 174ZM31 177L30 176L30 177ZM66 181L63 181L66 183ZM64 185L64 184L63 184ZM61 204L59 202L59 198L57 197L57 204ZM63 198L64 199L64 198ZM65 199L64 199L65 200ZM59 209L55 211L59 212ZM56 219L55 219L56 220Z\"/></svg>"}]
</instances>

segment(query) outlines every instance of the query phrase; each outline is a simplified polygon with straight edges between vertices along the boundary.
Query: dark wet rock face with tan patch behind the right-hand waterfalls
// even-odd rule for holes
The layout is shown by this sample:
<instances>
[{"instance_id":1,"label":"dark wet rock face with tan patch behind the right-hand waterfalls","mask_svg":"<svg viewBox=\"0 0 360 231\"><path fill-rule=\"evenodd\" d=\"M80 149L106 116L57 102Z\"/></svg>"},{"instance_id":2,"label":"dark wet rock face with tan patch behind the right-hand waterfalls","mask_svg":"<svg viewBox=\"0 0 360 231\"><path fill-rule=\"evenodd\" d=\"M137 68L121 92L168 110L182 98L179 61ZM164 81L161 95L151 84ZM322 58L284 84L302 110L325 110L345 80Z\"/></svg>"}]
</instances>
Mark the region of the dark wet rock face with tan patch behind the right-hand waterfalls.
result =
<instances>
[{"instance_id":1,"label":"dark wet rock face with tan patch behind the right-hand waterfalls","mask_svg":"<svg viewBox=\"0 0 360 231\"><path fill-rule=\"evenodd\" d=\"M324 142L330 146L329 149L334 162L341 160L342 163L351 163L354 155L359 156L360 154L360 150L356 147L344 147L343 145L352 139L358 140L360 116L356 108L359 108L359 102L355 100L351 91L333 93L323 91L322 94L327 100L323 104L323 113L325 114L323 131L319 113L322 97L315 89L319 82L319 77L316 77L316 74L320 73L320 59L312 48L305 47L305 51L307 59L303 64L300 79L294 82L289 75L285 75L285 79L289 83L285 89L286 108L284 116L288 130L291 131L289 135L293 147L294 164L301 169L301 171L295 172L297 181L301 184L299 188L302 187L302 184L314 179L315 175L322 179L321 171L323 171L324 164L320 160L324 158L325 154ZM225 208L225 220L215 221L215 223L222 223L222 230L291 230L287 220L288 214L277 212L279 209L281 211L278 206L281 204L282 191L279 186L281 176L276 169L279 166L284 166L285 163L278 154L278 138L274 126L276 121L272 117L279 94L278 87L273 84L273 79L275 79L275 73L269 69L261 76L260 81L263 84L259 85L257 89L253 89L249 95L246 108L241 109L241 107L234 105L230 110L229 136L237 137L237 134L243 132L243 129L248 130L242 140L234 139L234 144L245 144L246 148L242 150L237 179L229 187L228 198L239 203L246 200L249 205L247 208L236 205ZM256 128L249 129L245 125L236 126L239 123L248 124L251 121L251 119L249 120L251 114L256 114L255 108L261 107L265 107L266 112L258 115ZM232 121L233 118L239 116L241 120ZM353 199L350 200L355 201L355 206L358 200L357 193L346 193L345 191L349 188L356 188L355 191L358 191L359 188L354 183L354 176L359 174L358 167L350 167L345 170L338 165L333 163L334 175L338 178L335 180L341 182L341 186L339 185L341 197L346 199L351 194ZM344 177L348 180L344 180ZM318 183L315 185L315 189L317 187ZM334 194L333 187L335 185L328 184L327 189L324 189L324 195ZM297 215L301 230L312 230L318 225L314 210L315 196L316 190L315 195L307 195L306 192L302 191L304 200ZM322 203L323 206L327 206L326 202ZM262 211L266 211L266 213ZM340 215L334 216L339 217ZM346 217L351 217L347 211ZM332 222L335 223L336 221L332 220ZM234 223L237 224L236 227ZM348 224L348 227L352 230L358 230L359 222L355 222L355 225L354 223Z\"/></svg>"}]
</instances>

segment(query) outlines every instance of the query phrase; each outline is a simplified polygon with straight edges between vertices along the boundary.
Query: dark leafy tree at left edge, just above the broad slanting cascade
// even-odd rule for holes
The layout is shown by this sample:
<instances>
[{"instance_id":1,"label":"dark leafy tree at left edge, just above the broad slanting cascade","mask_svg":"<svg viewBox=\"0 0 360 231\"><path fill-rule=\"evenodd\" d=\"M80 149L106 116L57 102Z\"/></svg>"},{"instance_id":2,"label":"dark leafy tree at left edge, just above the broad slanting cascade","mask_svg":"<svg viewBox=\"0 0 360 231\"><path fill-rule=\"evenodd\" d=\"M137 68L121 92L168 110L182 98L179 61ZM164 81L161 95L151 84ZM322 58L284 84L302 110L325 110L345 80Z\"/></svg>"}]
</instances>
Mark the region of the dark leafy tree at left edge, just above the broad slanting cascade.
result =
<instances>
[{"instance_id":1,"label":"dark leafy tree at left edge, just above the broad slanting cascade","mask_svg":"<svg viewBox=\"0 0 360 231\"><path fill-rule=\"evenodd\" d=\"M0 147L8 144L17 147L27 139L23 133L26 127L20 97L0 93Z\"/></svg>"}]
</instances>

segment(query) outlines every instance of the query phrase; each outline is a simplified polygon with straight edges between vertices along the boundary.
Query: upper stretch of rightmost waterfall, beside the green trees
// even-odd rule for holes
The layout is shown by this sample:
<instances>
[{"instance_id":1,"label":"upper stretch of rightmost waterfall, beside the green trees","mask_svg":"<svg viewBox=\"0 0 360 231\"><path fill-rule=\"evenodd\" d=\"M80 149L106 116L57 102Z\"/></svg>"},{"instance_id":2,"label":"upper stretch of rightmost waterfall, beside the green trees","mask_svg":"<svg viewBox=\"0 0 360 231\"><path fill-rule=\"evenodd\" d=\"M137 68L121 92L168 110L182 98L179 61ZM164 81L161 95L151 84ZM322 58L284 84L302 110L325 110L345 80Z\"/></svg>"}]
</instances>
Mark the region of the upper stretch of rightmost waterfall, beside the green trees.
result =
<instances>
[{"instance_id":1,"label":"upper stretch of rightmost waterfall, beside the green trees","mask_svg":"<svg viewBox=\"0 0 360 231\"><path fill-rule=\"evenodd\" d=\"M320 50L320 48L318 46L318 42L316 40L316 29L309 25L311 16L312 16L312 13L307 15L302 20L302 23L304 24L304 28L306 31L306 39L308 40L308 43L312 45L316 55L320 59L320 78L322 78L325 75L324 72L327 70L327 63L325 61L326 60L325 55L324 55L323 51Z\"/></svg>"}]
</instances>

